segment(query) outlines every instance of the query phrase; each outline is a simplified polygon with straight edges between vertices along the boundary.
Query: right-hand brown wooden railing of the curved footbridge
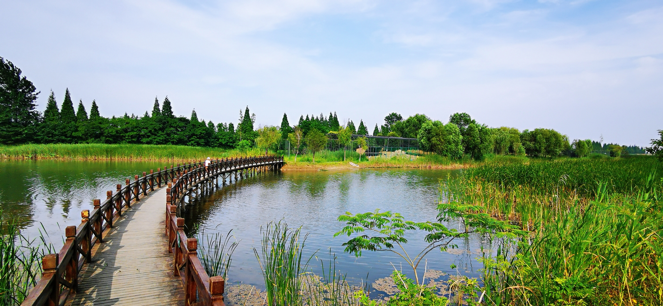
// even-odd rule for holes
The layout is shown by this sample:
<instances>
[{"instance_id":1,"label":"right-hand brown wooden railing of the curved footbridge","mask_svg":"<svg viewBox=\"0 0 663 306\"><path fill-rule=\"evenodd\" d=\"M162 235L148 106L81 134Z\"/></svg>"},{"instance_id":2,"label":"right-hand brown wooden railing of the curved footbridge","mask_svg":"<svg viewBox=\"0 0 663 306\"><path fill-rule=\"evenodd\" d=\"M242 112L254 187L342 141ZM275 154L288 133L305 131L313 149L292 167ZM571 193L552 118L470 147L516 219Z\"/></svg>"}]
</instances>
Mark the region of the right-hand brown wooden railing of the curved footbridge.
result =
<instances>
[{"instance_id":1,"label":"right-hand brown wooden railing of the curved footbridge","mask_svg":"<svg viewBox=\"0 0 663 306\"><path fill-rule=\"evenodd\" d=\"M168 183L166 192L166 235L170 242L168 251L174 259L174 274L184 283L184 305L222 306L225 280L222 276L208 276L198 259L198 240L188 238L184 232L184 218L177 217L178 205L192 189L210 182L223 174L244 171L249 168L276 170L283 165L281 156L259 156L215 160L210 166L196 165L184 170Z\"/></svg>"}]
</instances>

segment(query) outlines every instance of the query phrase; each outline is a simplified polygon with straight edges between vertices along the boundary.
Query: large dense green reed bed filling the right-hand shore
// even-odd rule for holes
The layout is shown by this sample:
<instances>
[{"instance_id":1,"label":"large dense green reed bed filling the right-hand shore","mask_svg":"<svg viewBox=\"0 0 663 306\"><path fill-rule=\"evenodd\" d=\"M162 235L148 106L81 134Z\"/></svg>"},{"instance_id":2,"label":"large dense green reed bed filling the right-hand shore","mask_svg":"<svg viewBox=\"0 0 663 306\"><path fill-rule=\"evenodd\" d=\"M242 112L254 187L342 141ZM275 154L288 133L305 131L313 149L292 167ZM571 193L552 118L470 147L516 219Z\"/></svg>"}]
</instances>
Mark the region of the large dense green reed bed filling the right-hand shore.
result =
<instances>
[{"instance_id":1,"label":"large dense green reed bed filling the right-hand shore","mask_svg":"<svg viewBox=\"0 0 663 306\"><path fill-rule=\"evenodd\" d=\"M654 158L487 163L447 197L530 232L484 257L486 305L663 305Z\"/></svg>"}]
</instances>

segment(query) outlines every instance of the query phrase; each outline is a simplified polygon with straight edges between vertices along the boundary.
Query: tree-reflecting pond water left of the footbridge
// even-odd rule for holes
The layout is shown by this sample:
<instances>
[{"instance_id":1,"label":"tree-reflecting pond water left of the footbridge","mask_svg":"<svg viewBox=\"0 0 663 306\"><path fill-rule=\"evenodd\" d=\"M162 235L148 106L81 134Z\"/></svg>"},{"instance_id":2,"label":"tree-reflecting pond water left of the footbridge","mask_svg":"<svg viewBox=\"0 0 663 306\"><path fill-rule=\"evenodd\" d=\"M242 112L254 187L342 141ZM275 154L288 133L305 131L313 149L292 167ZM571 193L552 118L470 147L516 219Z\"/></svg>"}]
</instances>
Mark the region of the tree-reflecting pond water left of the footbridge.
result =
<instances>
[{"instance_id":1,"label":"tree-reflecting pond water left of the footbridge","mask_svg":"<svg viewBox=\"0 0 663 306\"><path fill-rule=\"evenodd\" d=\"M156 162L0 160L0 209L34 237L44 225L56 248L64 228L80 223L80 211L93 199L143 171L162 168ZM168 165L170 166L170 165Z\"/></svg>"}]
</instances>

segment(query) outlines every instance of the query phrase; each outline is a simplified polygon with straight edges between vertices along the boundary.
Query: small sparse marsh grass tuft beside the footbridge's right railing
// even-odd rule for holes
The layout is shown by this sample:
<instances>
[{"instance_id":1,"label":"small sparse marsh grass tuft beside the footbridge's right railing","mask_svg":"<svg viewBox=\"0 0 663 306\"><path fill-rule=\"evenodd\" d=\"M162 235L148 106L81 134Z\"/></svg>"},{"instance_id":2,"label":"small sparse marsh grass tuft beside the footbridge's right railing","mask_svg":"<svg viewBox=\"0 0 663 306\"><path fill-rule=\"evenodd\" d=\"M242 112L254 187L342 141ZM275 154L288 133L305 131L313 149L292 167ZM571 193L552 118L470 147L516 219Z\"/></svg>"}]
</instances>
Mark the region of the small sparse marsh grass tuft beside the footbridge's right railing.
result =
<instances>
[{"instance_id":1,"label":"small sparse marsh grass tuft beside the footbridge's right railing","mask_svg":"<svg viewBox=\"0 0 663 306\"><path fill-rule=\"evenodd\" d=\"M229 230L226 234L223 232L209 234L205 229L197 232L198 258L208 276L223 276L223 279L227 279L233 252L239 244L237 239L231 242L231 238L234 238L232 232L233 230Z\"/></svg>"}]
</instances>

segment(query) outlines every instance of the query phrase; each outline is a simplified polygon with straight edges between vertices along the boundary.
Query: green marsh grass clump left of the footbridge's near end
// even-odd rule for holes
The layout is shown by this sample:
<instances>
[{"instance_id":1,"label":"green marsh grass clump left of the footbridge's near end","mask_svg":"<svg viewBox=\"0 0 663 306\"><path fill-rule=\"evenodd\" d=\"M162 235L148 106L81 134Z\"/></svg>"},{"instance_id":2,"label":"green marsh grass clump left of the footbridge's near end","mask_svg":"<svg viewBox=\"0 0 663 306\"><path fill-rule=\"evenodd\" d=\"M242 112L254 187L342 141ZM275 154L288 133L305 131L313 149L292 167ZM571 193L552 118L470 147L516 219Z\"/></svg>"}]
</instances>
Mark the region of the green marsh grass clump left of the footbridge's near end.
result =
<instances>
[{"instance_id":1,"label":"green marsh grass clump left of the footbridge's near end","mask_svg":"<svg viewBox=\"0 0 663 306\"><path fill-rule=\"evenodd\" d=\"M23 236L0 211L0 305L21 305L41 277L41 258L52 252L44 234L32 240Z\"/></svg>"}]
</instances>

